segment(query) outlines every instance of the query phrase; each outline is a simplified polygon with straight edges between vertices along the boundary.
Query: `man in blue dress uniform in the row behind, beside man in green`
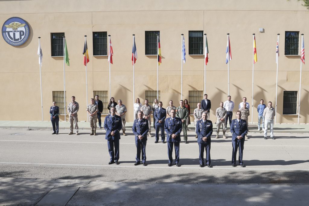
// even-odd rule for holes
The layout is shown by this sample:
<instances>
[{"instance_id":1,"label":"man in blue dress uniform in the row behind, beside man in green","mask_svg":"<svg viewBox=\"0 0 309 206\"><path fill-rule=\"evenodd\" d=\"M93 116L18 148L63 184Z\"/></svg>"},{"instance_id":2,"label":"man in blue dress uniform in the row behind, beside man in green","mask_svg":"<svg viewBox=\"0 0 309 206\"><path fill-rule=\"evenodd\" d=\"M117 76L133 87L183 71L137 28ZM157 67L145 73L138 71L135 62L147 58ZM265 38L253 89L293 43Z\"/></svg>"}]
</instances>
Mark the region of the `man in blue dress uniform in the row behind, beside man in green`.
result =
<instances>
[{"instance_id":1,"label":"man in blue dress uniform in the row behind, beside man in green","mask_svg":"<svg viewBox=\"0 0 309 206\"><path fill-rule=\"evenodd\" d=\"M166 118L166 110L162 108L163 103L159 102L159 107L155 110L155 143L159 141L159 130L161 130L161 141L165 143L164 120Z\"/></svg>"}]
</instances>

